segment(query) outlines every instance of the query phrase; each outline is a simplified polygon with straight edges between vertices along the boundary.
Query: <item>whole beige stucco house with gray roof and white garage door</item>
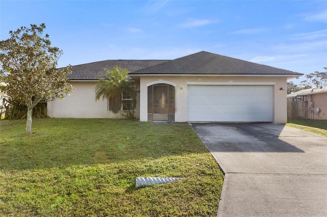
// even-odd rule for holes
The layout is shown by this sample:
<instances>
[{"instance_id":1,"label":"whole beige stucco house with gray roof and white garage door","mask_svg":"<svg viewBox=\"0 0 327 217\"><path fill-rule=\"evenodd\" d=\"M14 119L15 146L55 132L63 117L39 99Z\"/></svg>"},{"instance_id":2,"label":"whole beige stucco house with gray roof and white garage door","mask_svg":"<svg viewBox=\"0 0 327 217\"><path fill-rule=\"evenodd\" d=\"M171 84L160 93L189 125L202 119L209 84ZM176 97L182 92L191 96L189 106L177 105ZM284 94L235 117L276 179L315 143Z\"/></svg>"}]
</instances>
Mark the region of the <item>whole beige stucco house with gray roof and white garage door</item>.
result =
<instances>
[{"instance_id":1,"label":"whole beige stucco house with gray roof and white garage door","mask_svg":"<svg viewBox=\"0 0 327 217\"><path fill-rule=\"evenodd\" d=\"M201 51L175 60L109 60L73 66L76 90L48 102L55 118L120 118L95 101L104 69L127 68L140 121L287 122L287 79L303 74Z\"/></svg>"}]
</instances>

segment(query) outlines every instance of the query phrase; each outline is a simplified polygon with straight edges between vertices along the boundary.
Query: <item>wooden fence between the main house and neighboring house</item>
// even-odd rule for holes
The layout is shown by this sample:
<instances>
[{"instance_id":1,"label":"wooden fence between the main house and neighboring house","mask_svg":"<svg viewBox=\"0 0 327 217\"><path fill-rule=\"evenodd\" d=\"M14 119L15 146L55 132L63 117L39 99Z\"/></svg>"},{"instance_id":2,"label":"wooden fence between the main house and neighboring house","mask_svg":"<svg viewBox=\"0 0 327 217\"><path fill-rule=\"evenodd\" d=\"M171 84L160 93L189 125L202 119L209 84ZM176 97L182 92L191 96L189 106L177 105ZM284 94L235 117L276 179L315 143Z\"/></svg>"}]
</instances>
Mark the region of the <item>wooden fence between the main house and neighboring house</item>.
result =
<instances>
[{"instance_id":1,"label":"wooden fence between the main house and neighboring house","mask_svg":"<svg viewBox=\"0 0 327 217\"><path fill-rule=\"evenodd\" d=\"M308 101L287 101L287 119L308 119Z\"/></svg>"}]
</instances>

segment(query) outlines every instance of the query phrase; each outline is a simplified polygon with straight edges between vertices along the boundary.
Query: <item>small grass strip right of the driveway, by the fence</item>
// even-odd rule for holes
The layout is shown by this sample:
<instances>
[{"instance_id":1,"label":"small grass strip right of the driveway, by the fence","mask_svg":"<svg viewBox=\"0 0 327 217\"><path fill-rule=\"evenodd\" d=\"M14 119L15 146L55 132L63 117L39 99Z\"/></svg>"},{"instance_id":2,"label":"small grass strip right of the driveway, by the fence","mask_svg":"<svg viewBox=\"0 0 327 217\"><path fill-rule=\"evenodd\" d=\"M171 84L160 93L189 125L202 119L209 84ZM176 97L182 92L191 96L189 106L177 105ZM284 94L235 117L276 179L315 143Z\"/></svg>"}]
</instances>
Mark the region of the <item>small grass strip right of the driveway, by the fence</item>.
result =
<instances>
[{"instance_id":1,"label":"small grass strip right of the driveway, by the fence","mask_svg":"<svg viewBox=\"0 0 327 217\"><path fill-rule=\"evenodd\" d=\"M294 119L285 125L327 137L326 120Z\"/></svg>"}]
</instances>

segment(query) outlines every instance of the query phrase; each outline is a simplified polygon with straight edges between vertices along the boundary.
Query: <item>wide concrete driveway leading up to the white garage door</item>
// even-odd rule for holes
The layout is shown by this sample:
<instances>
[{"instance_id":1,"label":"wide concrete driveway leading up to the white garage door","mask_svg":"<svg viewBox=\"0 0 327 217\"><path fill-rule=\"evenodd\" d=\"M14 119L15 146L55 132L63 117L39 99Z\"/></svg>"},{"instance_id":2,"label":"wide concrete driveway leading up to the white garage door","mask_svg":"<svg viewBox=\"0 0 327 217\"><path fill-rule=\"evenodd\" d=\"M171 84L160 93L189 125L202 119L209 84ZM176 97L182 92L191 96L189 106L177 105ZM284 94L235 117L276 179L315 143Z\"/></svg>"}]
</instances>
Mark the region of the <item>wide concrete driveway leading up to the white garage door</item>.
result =
<instances>
[{"instance_id":1,"label":"wide concrete driveway leading up to the white garage door","mask_svg":"<svg viewBox=\"0 0 327 217\"><path fill-rule=\"evenodd\" d=\"M327 138L281 124L192 126L225 173L217 216L327 216Z\"/></svg>"}]
</instances>

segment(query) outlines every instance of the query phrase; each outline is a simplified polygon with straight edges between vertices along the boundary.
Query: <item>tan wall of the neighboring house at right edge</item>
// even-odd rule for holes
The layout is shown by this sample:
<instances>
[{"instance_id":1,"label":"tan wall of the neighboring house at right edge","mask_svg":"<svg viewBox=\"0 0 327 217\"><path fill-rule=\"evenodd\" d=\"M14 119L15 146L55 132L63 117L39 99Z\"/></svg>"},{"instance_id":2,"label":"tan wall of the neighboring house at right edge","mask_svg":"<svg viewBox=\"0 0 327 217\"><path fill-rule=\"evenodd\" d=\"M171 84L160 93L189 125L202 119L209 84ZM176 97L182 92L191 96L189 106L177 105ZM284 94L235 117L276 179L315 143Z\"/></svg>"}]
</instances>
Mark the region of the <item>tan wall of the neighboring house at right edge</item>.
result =
<instances>
[{"instance_id":1,"label":"tan wall of the neighboring house at right edge","mask_svg":"<svg viewBox=\"0 0 327 217\"><path fill-rule=\"evenodd\" d=\"M318 93L308 95L309 101L309 119L313 120L327 120L327 93ZM310 110L313 107L313 110ZM319 112L317 112L319 108Z\"/></svg>"}]
</instances>

